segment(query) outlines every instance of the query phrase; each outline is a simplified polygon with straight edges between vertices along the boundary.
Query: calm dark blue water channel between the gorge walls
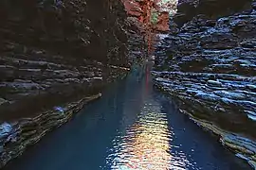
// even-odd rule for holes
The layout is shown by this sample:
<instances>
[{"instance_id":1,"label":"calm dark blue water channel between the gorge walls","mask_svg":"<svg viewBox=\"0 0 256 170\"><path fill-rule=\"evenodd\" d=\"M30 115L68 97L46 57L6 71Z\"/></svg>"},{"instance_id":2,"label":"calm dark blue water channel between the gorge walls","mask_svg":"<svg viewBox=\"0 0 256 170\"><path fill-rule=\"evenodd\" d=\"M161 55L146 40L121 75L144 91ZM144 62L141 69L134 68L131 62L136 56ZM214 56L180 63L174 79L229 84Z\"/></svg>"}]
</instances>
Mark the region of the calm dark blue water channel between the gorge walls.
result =
<instances>
[{"instance_id":1,"label":"calm dark blue water channel between the gorge walls","mask_svg":"<svg viewBox=\"0 0 256 170\"><path fill-rule=\"evenodd\" d=\"M250 169L156 92L145 69L113 84L5 169Z\"/></svg>"}]
</instances>

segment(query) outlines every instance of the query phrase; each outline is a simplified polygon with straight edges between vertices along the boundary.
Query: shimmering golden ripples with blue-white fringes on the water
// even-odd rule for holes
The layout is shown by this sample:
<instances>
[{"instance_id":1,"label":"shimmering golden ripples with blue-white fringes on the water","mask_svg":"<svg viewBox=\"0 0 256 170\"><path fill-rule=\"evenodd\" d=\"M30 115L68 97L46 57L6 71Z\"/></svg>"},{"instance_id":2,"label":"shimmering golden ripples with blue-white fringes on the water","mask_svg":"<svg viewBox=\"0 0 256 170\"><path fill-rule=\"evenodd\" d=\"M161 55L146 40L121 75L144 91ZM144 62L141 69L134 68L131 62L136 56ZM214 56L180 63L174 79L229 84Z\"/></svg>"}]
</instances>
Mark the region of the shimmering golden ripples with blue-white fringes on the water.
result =
<instances>
[{"instance_id":1,"label":"shimmering golden ripples with blue-white fringes on the water","mask_svg":"<svg viewBox=\"0 0 256 170\"><path fill-rule=\"evenodd\" d=\"M111 162L111 169L185 169L185 163L175 162L175 159L172 158L173 132L168 128L166 113L161 113L160 106L144 107L137 122L125 133L125 136L115 143L116 153Z\"/></svg>"}]
</instances>

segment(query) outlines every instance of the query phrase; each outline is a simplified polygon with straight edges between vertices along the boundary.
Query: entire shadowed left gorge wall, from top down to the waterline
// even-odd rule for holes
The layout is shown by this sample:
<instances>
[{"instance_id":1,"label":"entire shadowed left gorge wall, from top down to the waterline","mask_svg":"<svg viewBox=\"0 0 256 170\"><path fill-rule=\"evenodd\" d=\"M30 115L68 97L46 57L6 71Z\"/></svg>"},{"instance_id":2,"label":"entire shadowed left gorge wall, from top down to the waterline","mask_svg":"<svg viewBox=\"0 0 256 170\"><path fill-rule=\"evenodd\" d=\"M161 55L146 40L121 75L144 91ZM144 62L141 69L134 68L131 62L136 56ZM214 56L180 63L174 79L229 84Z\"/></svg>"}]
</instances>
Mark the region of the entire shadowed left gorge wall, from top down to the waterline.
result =
<instances>
[{"instance_id":1,"label":"entire shadowed left gorge wall, from top down to the waterline","mask_svg":"<svg viewBox=\"0 0 256 170\"><path fill-rule=\"evenodd\" d=\"M0 167L143 58L127 17L119 0L0 2Z\"/></svg>"}]
</instances>

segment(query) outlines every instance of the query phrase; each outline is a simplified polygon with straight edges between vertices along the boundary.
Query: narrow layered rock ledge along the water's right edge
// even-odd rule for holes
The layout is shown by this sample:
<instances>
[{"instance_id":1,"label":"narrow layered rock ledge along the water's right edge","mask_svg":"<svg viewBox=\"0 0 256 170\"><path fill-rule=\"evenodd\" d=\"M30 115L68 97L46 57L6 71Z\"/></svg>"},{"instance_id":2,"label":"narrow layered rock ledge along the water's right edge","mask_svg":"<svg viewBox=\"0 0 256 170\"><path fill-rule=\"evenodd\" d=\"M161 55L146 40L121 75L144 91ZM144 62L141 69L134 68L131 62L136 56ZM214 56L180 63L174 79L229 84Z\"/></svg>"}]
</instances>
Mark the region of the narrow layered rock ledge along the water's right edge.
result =
<instances>
[{"instance_id":1,"label":"narrow layered rock ledge along the water's right edge","mask_svg":"<svg viewBox=\"0 0 256 170\"><path fill-rule=\"evenodd\" d=\"M167 86L168 83L166 82L159 83L158 81L155 81L155 88L174 98L181 113L187 114L197 126L202 127L204 130L210 132L214 136L217 136L221 144L223 144L231 152L236 154L237 157L247 161L252 168L256 168L256 142L254 138L247 137L247 133L235 133L232 131L232 129L228 130L225 129L225 127L220 127L217 123L214 123L210 119L204 119L204 114L214 113L214 111L194 111L194 108L197 108L199 110L204 110L205 108L203 108L202 106L200 106L201 108L199 108L198 105L192 106L190 103L188 103L186 99L183 100L179 98L179 96L177 96L176 94L172 93L169 89L170 87ZM227 120L223 121L228 122Z\"/></svg>"}]
</instances>

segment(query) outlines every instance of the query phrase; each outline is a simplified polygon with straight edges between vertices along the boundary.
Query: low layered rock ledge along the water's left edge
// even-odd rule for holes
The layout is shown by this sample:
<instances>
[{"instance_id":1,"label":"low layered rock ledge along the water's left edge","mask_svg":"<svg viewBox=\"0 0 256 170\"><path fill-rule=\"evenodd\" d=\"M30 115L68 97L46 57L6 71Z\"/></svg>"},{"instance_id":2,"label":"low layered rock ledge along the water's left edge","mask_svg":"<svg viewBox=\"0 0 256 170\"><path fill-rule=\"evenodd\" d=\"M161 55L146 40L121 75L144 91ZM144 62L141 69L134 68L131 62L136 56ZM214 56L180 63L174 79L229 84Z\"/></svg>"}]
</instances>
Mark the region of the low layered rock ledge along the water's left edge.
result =
<instances>
[{"instance_id":1,"label":"low layered rock ledge along the water's left edge","mask_svg":"<svg viewBox=\"0 0 256 170\"><path fill-rule=\"evenodd\" d=\"M101 93L84 97L79 101L48 110L33 118L23 118L11 124L1 125L0 168L20 155L29 145L39 142L47 132L62 126L70 120L82 107L97 98Z\"/></svg>"}]
</instances>

